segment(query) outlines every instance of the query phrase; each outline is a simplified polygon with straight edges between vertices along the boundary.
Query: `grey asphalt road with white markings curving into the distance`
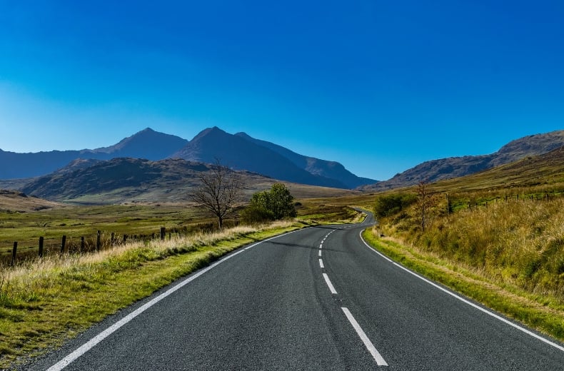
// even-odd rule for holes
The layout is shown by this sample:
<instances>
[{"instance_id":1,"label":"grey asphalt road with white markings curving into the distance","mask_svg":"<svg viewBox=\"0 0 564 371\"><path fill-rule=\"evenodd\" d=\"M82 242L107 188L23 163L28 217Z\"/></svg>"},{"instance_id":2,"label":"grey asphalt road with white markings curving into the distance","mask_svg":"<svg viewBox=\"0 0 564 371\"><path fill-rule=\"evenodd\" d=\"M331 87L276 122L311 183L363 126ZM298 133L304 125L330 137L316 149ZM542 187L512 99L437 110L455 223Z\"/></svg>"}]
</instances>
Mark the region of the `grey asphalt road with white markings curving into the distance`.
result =
<instances>
[{"instance_id":1,"label":"grey asphalt road with white markings curving into the distance","mask_svg":"<svg viewBox=\"0 0 564 371\"><path fill-rule=\"evenodd\" d=\"M30 368L564 370L562 344L368 248L360 236L368 223L306 228L237 250Z\"/></svg>"}]
</instances>

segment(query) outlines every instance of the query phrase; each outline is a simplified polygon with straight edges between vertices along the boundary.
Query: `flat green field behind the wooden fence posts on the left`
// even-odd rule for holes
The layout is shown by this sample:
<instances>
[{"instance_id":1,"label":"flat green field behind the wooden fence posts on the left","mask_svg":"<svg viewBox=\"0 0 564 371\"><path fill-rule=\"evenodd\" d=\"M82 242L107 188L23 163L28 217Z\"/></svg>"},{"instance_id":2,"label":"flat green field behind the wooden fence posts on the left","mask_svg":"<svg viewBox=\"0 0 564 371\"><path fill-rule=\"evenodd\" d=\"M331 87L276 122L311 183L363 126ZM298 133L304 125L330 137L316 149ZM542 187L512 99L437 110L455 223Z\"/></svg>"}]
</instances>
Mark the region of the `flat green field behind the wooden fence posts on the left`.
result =
<instances>
[{"instance_id":1,"label":"flat green field behind the wooden fence posts on the left","mask_svg":"<svg viewBox=\"0 0 564 371\"><path fill-rule=\"evenodd\" d=\"M181 205L103 205L69 206L27 213L0 212L0 256L11 253L14 241L19 250L37 250L39 237L45 238L45 246L60 246L63 235L71 246L79 243L81 236L86 243L94 244L96 231L101 230L109 238L124 234L151 235L159 228L181 230L208 229L214 220L201 211Z\"/></svg>"}]
</instances>

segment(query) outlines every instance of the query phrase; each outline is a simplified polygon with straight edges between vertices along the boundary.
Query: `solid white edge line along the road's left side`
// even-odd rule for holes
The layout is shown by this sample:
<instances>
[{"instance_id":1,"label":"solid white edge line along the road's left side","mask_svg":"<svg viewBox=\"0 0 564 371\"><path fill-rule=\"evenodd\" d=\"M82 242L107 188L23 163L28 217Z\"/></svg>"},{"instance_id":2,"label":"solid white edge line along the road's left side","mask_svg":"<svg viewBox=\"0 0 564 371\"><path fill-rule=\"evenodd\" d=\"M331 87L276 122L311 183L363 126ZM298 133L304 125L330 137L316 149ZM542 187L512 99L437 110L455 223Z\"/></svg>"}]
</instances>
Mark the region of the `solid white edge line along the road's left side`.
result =
<instances>
[{"instance_id":1,"label":"solid white edge line along the road's left side","mask_svg":"<svg viewBox=\"0 0 564 371\"><path fill-rule=\"evenodd\" d=\"M307 228L303 228L303 229L307 229ZM298 229L298 230L303 230L303 229ZM251 246L248 246L248 248L244 248L243 250L238 250L236 253L232 253L231 255L227 255L225 258L218 260L216 263L213 263L212 265L209 265L206 268L203 268L202 270L200 270L197 273L194 273L193 275L191 275L190 277L184 279L183 281L181 281L181 283L178 283L178 285L175 285L173 288L169 288L168 290L166 290L164 293L162 293L161 295L158 295L156 298L153 298L153 300L148 301L147 303L141 305L141 307L137 308L136 310L134 310L133 312L129 313L129 315L126 315L125 317L121 318L121 320L119 320L118 322L114 323L114 325L111 325L110 327L106 328L106 330L100 332L98 335L96 335L95 337L91 338L91 340L89 340L88 342L84 343L83 345L81 345L80 347L78 347L76 350L74 350L74 352L71 352L71 354L67 355L66 357L64 357L62 360L60 360L59 362L57 362L55 365L52 365L51 367L49 367L48 371L59 371L59 370L63 370L66 366L68 366L71 362L73 362L74 360L78 359L79 357L81 357L81 355L84 355L84 353L88 352L89 350L91 350L94 346L96 346L96 344L98 344L99 342L101 342L102 340L106 339L106 337L109 337L109 335L111 335L112 333L116 332L116 330L119 330L120 327L126 325L128 322L130 322L131 320L133 320L135 317L137 317L138 315L140 315L142 312L144 312L145 310L148 310L148 308L151 308L153 305L155 305L156 303L158 303L159 301L163 300L164 298L166 298L168 295L171 295L172 293L174 293L176 290L183 288L183 286L187 285L188 283L191 283L191 281L195 280L196 278L200 277L201 275L203 275L204 273L208 272L208 270L212 270L213 268L216 268L217 265L223 263L224 261L233 258L233 256L238 255L240 253L243 253L243 251L248 250L249 248L253 248L256 245L260 245L263 242L269 241L269 240L273 240L274 238L278 238L278 237L282 237L283 235L288 235L290 233L294 233L294 232L298 232L298 230L293 230L291 232L288 233L283 233L281 235L275 235L274 237L271 238L267 238L266 240L262 240L259 241L258 243L255 243Z\"/></svg>"}]
</instances>

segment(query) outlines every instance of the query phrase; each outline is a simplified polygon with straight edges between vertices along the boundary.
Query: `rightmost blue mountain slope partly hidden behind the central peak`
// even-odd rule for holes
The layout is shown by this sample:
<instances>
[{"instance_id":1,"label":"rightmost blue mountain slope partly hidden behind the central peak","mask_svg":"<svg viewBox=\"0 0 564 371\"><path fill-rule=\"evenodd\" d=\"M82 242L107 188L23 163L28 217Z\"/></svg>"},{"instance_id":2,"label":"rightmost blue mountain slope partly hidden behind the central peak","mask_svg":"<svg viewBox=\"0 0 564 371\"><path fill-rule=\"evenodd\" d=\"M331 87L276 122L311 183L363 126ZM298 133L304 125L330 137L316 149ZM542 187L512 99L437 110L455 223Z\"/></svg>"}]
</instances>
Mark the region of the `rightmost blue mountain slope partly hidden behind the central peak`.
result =
<instances>
[{"instance_id":1,"label":"rightmost blue mountain slope partly hidden behind the central peak","mask_svg":"<svg viewBox=\"0 0 564 371\"><path fill-rule=\"evenodd\" d=\"M243 138L251 143L258 144L258 146L268 148L279 155L288 158L288 160L290 160L294 165L307 171L308 173L312 173L316 176L322 176L324 178L338 179L338 181L341 181L346 188L353 189L361 185L376 183L373 179L360 178L354 175L341 165L341 163L336 161L326 161L319 158L303 156L290 151L288 148L278 146L277 144L252 138L246 133L236 133L235 136Z\"/></svg>"}]
</instances>

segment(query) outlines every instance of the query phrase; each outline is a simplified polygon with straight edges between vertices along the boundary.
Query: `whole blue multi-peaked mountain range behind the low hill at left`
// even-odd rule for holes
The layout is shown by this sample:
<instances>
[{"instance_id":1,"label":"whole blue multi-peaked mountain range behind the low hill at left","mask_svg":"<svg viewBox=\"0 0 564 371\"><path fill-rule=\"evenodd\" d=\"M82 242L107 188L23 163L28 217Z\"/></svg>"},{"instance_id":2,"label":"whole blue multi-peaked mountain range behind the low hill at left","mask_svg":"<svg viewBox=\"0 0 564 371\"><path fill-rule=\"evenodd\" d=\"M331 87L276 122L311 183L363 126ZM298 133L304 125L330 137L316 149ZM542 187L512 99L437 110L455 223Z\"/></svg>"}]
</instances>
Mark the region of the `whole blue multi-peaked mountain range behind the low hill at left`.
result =
<instances>
[{"instance_id":1,"label":"whole blue multi-peaked mountain range behind the low hill at left","mask_svg":"<svg viewBox=\"0 0 564 371\"><path fill-rule=\"evenodd\" d=\"M332 188L357 188L375 183L347 171L341 163L299 155L246 133L228 134L219 128L207 128L191 141L146 128L114 146L82 151L13 153L0 150L0 179L44 176L71 163L72 168L88 167L94 160L142 158L151 161L183 158L213 163L218 159L236 170L260 173L280 181L320 185ZM80 161L76 161L79 160Z\"/></svg>"}]
</instances>

